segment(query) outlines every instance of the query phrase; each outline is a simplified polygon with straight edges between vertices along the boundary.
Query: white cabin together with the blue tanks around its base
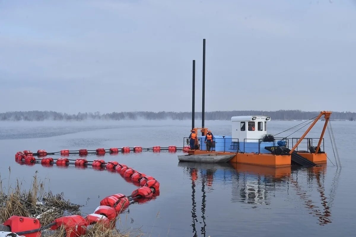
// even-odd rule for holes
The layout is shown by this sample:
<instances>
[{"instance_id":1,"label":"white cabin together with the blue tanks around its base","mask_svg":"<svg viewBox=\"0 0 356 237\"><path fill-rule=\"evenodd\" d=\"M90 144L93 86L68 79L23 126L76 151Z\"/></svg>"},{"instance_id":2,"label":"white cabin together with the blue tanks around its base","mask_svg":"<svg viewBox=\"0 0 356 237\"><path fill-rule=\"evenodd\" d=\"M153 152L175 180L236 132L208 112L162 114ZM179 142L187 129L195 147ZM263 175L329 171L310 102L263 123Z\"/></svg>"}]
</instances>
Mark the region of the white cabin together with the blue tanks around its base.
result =
<instances>
[{"instance_id":1,"label":"white cabin together with the blue tanks around its base","mask_svg":"<svg viewBox=\"0 0 356 237\"><path fill-rule=\"evenodd\" d=\"M232 136L218 136L213 133L214 143L212 150L270 153L264 148L265 146L272 146L273 142L259 140L263 139L267 134L268 121L271 121L270 117L261 115L231 117ZM205 136L201 136L200 139L200 149L206 150L204 144Z\"/></svg>"}]
</instances>

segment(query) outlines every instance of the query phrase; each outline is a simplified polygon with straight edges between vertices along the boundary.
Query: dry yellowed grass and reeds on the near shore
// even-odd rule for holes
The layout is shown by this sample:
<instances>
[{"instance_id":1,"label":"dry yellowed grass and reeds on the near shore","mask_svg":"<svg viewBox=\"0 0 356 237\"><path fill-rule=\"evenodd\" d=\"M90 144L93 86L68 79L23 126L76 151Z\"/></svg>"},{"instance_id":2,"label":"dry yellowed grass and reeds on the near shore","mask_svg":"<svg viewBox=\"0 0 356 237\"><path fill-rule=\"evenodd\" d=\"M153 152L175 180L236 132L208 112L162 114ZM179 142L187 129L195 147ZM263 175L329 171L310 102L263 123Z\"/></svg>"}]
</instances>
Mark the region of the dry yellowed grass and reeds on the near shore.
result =
<instances>
[{"instance_id":1,"label":"dry yellowed grass and reeds on the near shore","mask_svg":"<svg viewBox=\"0 0 356 237\"><path fill-rule=\"evenodd\" d=\"M9 179L11 169L9 167ZM3 182L0 175L0 221L4 223L11 216L26 216L37 218L41 222L41 226L48 225L56 218L66 215L81 215L80 205L73 204L64 198L64 194L52 194L51 191L45 192L45 181L39 180L37 171L33 176L31 187L29 190L23 188L22 182L16 180L15 187L10 183L7 188L3 187ZM82 215L83 216L83 215ZM120 221L120 217L117 219ZM46 236L63 237L65 236L64 228L53 232L46 230ZM138 233L140 230L135 230L134 233L120 233L116 228L108 229L101 223L88 228L87 233L83 236L86 237L129 237L129 236L142 236ZM126 231L125 231L126 232Z\"/></svg>"}]
</instances>

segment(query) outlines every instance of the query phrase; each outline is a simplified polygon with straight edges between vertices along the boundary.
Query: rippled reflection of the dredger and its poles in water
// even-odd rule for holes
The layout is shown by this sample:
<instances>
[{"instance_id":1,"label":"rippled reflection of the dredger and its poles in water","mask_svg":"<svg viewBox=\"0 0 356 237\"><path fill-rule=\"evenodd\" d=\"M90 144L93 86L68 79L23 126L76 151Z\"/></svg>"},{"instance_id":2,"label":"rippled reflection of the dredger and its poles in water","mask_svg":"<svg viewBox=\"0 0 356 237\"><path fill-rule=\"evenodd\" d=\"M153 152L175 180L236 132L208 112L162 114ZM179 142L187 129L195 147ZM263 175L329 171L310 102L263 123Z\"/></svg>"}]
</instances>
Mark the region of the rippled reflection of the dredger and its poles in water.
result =
<instances>
[{"instance_id":1,"label":"rippled reflection of the dredger and its poles in water","mask_svg":"<svg viewBox=\"0 0 356 237\"><path fill-rule=\"evenodd\" d=\"M206 193L205 189L214 189L214 183L231 183L231 202L245 203L253 206L271 205L276 192L292 193L300 197L302 205L308 213L318 218L319 225L331 223L331 206L335 196L337 182L339 180L339 170L336 171L333 184L331 184L330 195L326 195L324 180L326 166L299 169L293 167L267 167L246 164L206 164L193 162L179 162L179 167L184 169L184 173L189 176L192 182L192 226L193 232L197 233L196 223L197 211L200 209L204 226L201 227L202 235L205 234L205 210ZM299 179L298 176L306 175L306 179ZM304 182L307 180L308 182ZM312 184L316 184L313 187ZM305 187L307 185L308 187ZM201 186L201 187L200 187ZM317 199L313 198L313 188L317 191ZM279 190L279 191L278 191ZM200 192L201 191L201 192ZM201 208L197 208L196 197L202 194ZM318 201L320 200L320 201ZM298 202L299 203L299 202ZM201 222L200 222L201 223Z\"/></svg>"}]
</instances>

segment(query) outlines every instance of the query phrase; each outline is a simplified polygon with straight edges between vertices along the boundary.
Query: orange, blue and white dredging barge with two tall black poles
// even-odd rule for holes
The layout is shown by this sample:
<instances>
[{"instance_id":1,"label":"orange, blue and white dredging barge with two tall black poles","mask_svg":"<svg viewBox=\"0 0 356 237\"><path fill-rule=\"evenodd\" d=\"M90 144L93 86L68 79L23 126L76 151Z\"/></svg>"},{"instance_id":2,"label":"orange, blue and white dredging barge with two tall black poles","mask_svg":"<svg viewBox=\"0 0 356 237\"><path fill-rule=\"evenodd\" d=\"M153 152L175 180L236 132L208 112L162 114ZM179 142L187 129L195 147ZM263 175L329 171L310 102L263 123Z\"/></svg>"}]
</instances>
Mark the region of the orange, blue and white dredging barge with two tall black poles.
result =
<instances>
[{"instance_id":1,"label":"orange, blue and white dredging barge with two tall black poles","mask_svg":"<svg viewBox=\"0 0 356 237\"><path fill-rule=\"evenodd\" d=\"M195 60L193 60L193 96L192 96L192 130L195 131L196 138L194 146L184 147L188 153L187 158L196 155L209 154L206 151L204 143L205 135L208 129L204 127L204 102L205 102L205 39L203 40L203 101L202 101L202 121L201 128L194 126L194 101L195 101ZM231 163L244 163L250 165L263 165L273 167L290 166L296 164L299 166L317 166L320 163L326 163L327 155L324 151L324 133L328 127L331 112L321 111L320 114L312 119L304 121L290 129L302 129L306 125L309 128L300 138L275 138L267 133L267 123L271 121L270 117L251 115L236 116L231 118L232 130L231 136L214 136L212 148L218 155L234 154L229 161ZM307 138L306 135L313 128L319 119L325 119L323 130L319 138ZM328 127L329 128L329 127ZM331 130L332 131L332 130ZM201 136L198 136L201 132ZM283 131L284 132L284 131ZM293 133L292 133L293 134ZM291 135L292 135L291 134ZM278 134L276 134L278 135ZM330 135L330 134L329 134ZM186 141L188 138L184 138ZM188 140L187 140L188 141ZM193 141L192 141L193 142ZM187 142L187 145L190 142ZM193 143L192 143L193 144ZM290 146L291 144L291 146ZM307 150L300 150L301 147L307 147ZM298 149L299 148L299 149ZM181 160L181 159L180 159ZM192 159L197 162L196 159ZM202 161L203 162L203 161Z\"/></svg>"}]
</instances>

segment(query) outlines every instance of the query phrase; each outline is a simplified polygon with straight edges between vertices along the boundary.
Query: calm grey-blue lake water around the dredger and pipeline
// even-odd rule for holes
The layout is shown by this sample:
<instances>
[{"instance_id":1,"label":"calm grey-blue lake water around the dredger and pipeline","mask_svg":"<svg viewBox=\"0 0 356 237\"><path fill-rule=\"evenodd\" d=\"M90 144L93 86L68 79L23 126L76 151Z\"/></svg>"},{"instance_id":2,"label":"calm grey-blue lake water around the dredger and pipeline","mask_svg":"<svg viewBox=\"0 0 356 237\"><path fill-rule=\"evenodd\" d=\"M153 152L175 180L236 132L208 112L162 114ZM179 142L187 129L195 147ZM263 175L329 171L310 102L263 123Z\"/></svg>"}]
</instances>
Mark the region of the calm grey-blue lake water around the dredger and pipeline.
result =
<instances>
[{"instance_id":1,"label":"calm grey-blue lake water around the dredger and pipeline","mask_svg":"<svg viewBox=\"0 0 356 237\"><path fill-rule=\"evenodd\" d=\"M300 122L271 121L277 133ZM199 124L197 121L196 124ZM215 135L231 135L231 122L206 121ZM249 165L209 165L178 162L177 153L142 152L101 156L155 177L160 195L133 204L124 214L120 230L139 229L147 236L345 236L355 228L356 122L333 121L342 169L331 162L316 168L266 168ZM38 171L52 192L64 192L73 203L93 213L105 196L131 194L137 187L106 170L20 165L17 151L78 150L155 145L183 146L189 121L91 121L0 123L0 172L3 183L16 178L31 183ZM309 137L320 135L319 122ZM300 137L304 130L291 137ZM281 134L287 136L290 133ZM325 150L333 163L328 135ZM52 156L58 158L59 156ZM71 155L70 158L77 158ZM88 155L88 160L98 158ZM11 176L9 177L9 167ZM132 222L132 223L131 223ZM131 228L131 229L130 229Z\"/></svg>"}]
</instances>

